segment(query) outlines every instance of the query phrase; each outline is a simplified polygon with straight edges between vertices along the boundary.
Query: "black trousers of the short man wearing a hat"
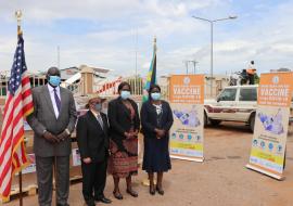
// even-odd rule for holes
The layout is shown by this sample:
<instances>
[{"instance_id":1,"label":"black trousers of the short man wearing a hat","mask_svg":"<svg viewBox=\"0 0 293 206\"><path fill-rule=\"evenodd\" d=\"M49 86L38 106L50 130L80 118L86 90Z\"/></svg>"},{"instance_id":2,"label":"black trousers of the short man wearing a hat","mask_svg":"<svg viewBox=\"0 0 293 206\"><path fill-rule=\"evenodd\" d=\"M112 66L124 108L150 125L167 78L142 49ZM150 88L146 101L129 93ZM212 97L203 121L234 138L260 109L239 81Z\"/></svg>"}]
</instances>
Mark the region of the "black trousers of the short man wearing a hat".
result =
<instances>
[{"instance_id":1,"label":"black trousers of the short man wearing a hat","mask_svg":"<svg viewBox=\"0 0 293 206\"><path fill-rule=\"evenodd\" d=\"M104 196L107 160L102 163L81 164L82 194L86 202Z\"/></svg>"}]
</instances>

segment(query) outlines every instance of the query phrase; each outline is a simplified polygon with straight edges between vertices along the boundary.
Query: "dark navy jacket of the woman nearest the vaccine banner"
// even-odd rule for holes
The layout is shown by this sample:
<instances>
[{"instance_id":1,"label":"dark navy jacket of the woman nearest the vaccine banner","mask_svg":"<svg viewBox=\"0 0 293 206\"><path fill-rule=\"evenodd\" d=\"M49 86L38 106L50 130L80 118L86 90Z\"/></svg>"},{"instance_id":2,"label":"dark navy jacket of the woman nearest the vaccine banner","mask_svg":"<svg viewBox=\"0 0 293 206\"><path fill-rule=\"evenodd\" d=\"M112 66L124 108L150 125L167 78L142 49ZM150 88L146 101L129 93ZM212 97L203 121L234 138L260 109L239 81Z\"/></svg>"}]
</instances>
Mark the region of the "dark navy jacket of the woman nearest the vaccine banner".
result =
<instances>
[{"instance_id":1,"label":"dark navy jacket of the woman nearest the vaccine banner","mask_svg":"<svg viewBox=\"0 0 293 206\"><path fill-rule=\"evenodd\" d=\"M164 129L166 136L173 125L173 113L169 103L162 101L163 115L161 119L161 125L157 125L157 114L155 107L152 105L151 101L146 101L142 104L140 111L142 133L144 138L156 138L155 128Z\"/></svg>"}]
</instances>

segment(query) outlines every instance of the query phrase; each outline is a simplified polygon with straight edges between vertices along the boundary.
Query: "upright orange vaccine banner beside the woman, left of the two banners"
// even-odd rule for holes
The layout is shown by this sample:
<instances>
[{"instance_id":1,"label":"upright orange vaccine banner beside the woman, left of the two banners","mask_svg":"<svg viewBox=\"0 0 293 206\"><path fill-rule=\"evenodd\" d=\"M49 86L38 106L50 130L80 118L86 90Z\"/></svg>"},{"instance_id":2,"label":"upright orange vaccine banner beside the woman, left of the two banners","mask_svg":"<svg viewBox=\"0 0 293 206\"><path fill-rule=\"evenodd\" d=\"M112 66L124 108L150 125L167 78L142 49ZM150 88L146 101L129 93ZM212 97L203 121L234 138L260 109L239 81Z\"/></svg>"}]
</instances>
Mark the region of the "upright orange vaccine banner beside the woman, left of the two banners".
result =
<instances>
[{"instance_id":1,"label":"upright orange vaccine banner beside the woman, left of the two banners","mask_svg":"<svg viewBox=\"0 0 293 206\"><path fill-rule=\"evenodd\" d=\"M204 75L173 75L169 100L174 116L170 156L203 162Z\"/></svg>"}]
</instances>

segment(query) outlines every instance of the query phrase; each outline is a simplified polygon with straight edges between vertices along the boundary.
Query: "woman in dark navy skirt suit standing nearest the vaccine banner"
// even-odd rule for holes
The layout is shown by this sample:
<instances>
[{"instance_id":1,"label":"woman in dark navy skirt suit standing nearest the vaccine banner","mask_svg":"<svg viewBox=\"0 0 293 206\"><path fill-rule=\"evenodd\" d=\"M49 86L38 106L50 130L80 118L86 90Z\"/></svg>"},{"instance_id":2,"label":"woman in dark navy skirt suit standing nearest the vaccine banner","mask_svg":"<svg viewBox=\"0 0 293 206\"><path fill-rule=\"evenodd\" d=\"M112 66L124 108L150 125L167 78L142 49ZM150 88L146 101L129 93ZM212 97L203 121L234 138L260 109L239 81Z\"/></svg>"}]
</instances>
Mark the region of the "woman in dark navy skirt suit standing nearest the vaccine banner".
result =
<instances>
[{"instance_id":1,"label":"woman in dark navy skirt suit standing nearest the vaccine banner","mask_svg":"<svg viewBox=\"0 0 293 206\"><path fill-rule=\"evenodd\" d=\"M169 104L161 100L161 88L151 86L149 101L141 107L141 125L144 136L144 154L142 169L149 175L150 193L163 195L163 172L171 168L169 157L169 129L173 125L173 113ZM157 183L154 186L154 172L157 172Z\"/></svg>"}]
</instances>

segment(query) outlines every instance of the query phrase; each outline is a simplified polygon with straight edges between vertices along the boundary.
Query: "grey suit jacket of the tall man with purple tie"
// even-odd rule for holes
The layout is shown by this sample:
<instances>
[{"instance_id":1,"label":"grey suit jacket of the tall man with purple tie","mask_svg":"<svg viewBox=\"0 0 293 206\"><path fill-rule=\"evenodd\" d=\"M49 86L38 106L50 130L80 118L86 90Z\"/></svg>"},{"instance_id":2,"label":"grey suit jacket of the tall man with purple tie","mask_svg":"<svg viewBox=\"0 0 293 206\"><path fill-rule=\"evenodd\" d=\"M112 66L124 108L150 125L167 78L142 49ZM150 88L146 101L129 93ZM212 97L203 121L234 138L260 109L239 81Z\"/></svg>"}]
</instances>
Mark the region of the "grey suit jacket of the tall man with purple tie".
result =
<instances>
[{"instance_id":1,"label":"grey suit jacket of the tall man with purple tie","mask_svg":"<svg viewBox=\"0 0 293 206\"><path fill-rule=\"evenodd\" d=\"M44 130L53 134L59 134L66 128L73 132L77 114L72 92L67 89L60 88L61 111L58 118L54 114L48 86L36 87L31 92L34 113L27 117L27 121L35 132L35 154L41 157L69 155L72 152L71 138L53 144L47 141L42 134Z\"/></svg>"}]
</instances>

